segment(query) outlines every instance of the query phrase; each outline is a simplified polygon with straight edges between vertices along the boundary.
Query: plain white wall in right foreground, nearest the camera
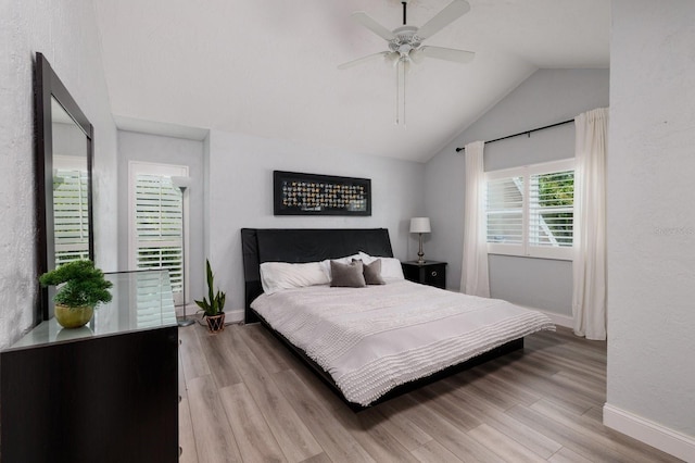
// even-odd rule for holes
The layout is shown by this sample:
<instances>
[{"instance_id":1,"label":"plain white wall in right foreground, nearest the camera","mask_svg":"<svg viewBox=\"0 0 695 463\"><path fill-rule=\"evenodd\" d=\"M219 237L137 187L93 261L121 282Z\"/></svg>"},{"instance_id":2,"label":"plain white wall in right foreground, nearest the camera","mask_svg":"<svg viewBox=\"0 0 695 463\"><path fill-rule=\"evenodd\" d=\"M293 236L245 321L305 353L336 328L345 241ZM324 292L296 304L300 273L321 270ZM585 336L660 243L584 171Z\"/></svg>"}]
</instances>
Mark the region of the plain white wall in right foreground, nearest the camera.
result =
<instances>
[{"instance_id":1,"label":"plain white wall in right foreground, nearest the camera","mask_svg":"<svg viewBox=\"0 0 695 463\"><path fill-rule=\"evenodd\" d=\"M687 461L695 461L693 43L694 2L614 0L606 420L628 434L642 418L679 433L666 441Z\"/></svg>"}]
</instances>

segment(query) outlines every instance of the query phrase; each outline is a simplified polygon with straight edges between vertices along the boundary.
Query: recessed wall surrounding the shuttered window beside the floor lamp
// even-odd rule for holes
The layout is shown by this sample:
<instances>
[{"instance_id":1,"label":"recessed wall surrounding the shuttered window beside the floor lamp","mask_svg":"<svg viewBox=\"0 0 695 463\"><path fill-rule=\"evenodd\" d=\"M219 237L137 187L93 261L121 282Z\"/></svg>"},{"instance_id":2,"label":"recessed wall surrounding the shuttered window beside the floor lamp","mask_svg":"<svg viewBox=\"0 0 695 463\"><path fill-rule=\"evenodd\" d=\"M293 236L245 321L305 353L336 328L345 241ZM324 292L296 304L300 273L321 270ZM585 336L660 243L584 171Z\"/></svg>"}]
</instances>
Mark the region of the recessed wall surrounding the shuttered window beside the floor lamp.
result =
<instances>
[{"instance_id":1,"label":"recessed wall surrounding the shuttered window beside the floor lamp","mask_svg":"<svg viewBox=\"0 0 695 463\"><path fill-rule=\"evenodd\" d=\"M187 241L189 280L186 298L192 303L205 293L203 247L203 141L118 130L118 266L128 266L128 164L130 161L187 165L191 186L188 196Z\"/></svg>"}]
</instances>

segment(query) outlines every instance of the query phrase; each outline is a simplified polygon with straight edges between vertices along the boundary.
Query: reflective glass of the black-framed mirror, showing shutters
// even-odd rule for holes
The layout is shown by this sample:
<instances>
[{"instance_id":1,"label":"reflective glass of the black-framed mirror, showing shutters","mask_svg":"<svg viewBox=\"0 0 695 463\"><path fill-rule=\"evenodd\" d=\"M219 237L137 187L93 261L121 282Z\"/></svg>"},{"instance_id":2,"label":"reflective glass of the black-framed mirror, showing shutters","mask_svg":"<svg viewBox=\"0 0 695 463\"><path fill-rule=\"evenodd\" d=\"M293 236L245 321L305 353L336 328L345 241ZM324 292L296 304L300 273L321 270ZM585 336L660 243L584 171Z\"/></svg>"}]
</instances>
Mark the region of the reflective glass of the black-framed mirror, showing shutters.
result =
<instances>
[{"instance_id":1,"label":"reflective glass of the black-framed mirror, showing shutters","mask_svg":"<svg viewBox=\"0 0 695 463\"><path fill-rule=\"evenodd\" d=\"M87 139L51 98L53 129L53 238L55 266L89 259Z\"/></svg>"}]
</instances>

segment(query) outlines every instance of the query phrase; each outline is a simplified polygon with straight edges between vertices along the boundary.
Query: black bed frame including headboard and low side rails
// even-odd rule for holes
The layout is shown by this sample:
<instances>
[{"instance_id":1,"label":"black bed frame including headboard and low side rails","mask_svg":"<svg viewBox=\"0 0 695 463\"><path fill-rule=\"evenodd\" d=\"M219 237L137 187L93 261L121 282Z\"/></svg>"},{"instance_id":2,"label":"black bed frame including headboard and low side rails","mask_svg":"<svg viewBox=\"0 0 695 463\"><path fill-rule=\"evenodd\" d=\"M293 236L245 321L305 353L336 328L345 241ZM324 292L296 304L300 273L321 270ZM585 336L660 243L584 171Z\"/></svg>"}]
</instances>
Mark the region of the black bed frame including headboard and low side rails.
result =
<instances>
[{"instance_id":1,"label":"black bed frame including headboard and low side rails","mask_svg":"<svg viewBox=\"0 0 695 463\"><path fill-rule=\"evenodd\" d=\"M359 411L366 409L358 403L349 402L332 377L306 355L303 350L292 345L285 336L273 329L263 316L251 308L251 302L263 293L261 286L261 264L263 262L317 262L325 259L343 258L359 251L366 252L369 255L392 258L393 250L391 248L391 240L389 239L389 230L386 228L242 228L241 243L245 281L244 323L260 322L263 324L276 338L312 367L352 410ZM425 384L432 383L522 348L523 338L515 339L430 376L397 386L372 402L370 406L412 391Z\"/></svg>"}]
</instances>

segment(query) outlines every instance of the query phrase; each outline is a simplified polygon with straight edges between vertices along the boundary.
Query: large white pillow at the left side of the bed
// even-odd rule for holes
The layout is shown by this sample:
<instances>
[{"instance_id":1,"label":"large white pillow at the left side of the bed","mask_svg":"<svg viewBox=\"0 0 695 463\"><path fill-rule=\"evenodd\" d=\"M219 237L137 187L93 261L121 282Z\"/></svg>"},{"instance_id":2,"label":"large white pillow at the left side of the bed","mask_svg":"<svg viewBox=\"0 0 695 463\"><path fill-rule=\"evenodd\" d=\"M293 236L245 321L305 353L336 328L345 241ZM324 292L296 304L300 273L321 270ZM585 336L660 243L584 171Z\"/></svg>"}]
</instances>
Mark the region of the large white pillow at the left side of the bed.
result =
<instances>
[{"instance_id":1,"label":"large white pillow at the left side of the bed","mask_svg":"<svg viewBox=\"0 0 695 463\"><path fill-rule=\"evenodd\" d=\"M291 264L289 262L264 262L261 264L261 285L266 295L282 289L327 285L330 277L321 268L320 262Z\"/></svg>"}]
</instances>

